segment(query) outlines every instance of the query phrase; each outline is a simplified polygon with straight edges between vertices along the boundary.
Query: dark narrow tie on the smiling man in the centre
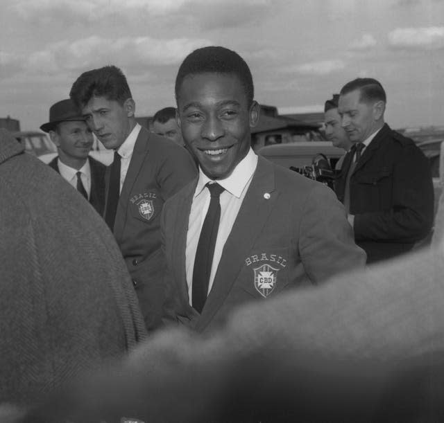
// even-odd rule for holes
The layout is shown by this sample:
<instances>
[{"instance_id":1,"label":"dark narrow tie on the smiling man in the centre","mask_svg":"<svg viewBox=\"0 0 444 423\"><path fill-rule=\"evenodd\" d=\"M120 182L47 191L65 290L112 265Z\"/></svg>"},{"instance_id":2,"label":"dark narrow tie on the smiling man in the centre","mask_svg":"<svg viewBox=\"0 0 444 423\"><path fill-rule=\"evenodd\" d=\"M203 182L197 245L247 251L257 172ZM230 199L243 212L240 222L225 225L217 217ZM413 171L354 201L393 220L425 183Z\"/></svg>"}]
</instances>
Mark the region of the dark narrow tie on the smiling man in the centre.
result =
<instances>
[{"instance_id":1,"label":"dark narrow tie on the smiling man in the centre","mask_svg":"<svg viewBox=\"0 0 444 423\"><path fill-rule=\"evenodd\" d=\"M207 300L214 246L216 245L219 220L221 219L219 197L224 190L219 183L207 183L206 187L210 190L211 199L197 244L192 287L192 305L199 313L202 312Z\"/></svg>"}]
</instances>

